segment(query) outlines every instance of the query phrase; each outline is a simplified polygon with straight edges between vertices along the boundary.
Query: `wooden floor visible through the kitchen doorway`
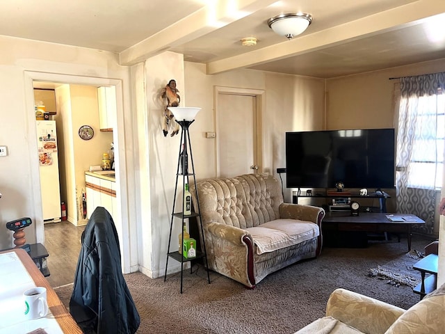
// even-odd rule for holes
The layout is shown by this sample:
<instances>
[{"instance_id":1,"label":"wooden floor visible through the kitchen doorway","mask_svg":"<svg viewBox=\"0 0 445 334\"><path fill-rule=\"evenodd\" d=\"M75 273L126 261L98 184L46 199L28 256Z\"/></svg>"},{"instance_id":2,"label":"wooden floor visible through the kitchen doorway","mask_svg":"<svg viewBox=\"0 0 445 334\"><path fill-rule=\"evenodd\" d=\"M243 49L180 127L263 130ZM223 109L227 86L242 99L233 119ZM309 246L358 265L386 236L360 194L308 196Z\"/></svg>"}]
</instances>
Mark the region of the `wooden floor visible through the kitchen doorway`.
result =
<instances>
[{"instance_id":1,"label":"wooden floor visible through the kitchen doorway","mask_svg":"<svg viewBox=\"0 0 445 334\"><path fill-rule=\"evenodd\" d=\"M47 264L51 287L74 282L77 259L81 250L81 234L85 226L68 221L44 224L44 246L48 250Z\"/></svg>"}]
</instances>

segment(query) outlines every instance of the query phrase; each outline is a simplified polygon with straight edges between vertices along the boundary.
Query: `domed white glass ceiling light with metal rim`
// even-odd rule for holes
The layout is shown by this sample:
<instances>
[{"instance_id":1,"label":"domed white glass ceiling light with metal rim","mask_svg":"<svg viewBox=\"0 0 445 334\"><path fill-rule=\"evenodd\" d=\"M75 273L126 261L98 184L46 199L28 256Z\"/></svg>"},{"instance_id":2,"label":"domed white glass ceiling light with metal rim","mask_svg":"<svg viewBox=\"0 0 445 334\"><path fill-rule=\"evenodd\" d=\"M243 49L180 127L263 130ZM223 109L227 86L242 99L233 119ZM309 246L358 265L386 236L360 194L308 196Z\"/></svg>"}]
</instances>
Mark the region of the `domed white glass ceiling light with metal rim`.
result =
<instances>
[{"instance_id":1,"label":"domed white glass ceiling light with metal rim","mask_svg":"<svg viewBox=\"0 0 445 334\"><path fill-rule=\"evenodd\" d=\"M291 40L300 35L312 22L312 15L307 13L284 13L268 19L268 26L278 35Z\"/></svg>"}]
</instances>

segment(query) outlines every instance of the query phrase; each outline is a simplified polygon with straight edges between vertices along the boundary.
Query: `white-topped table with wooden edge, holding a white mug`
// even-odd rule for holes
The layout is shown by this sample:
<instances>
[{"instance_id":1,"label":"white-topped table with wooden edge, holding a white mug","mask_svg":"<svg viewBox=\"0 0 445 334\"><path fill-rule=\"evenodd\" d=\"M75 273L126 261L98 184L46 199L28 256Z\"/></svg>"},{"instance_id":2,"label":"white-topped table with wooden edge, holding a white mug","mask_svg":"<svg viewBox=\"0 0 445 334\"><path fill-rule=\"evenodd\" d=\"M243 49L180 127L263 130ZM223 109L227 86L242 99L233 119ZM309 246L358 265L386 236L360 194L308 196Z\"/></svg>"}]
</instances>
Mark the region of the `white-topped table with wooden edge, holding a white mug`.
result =
<instances>
[{"instance_id":1,"label":"white-topped table with wooden edge, holding a white mug","mask_svg":"<svg viewBox=\"0 0 445 334\"><path fill-rule=\"evenodd\" d=\"M31 287L46 287L46 317L24 319L22 294ZM0 334L29 333L38 328L48 334L82 333L31 257L21 248L0 253Z\"/></svg>"}]
</instances>

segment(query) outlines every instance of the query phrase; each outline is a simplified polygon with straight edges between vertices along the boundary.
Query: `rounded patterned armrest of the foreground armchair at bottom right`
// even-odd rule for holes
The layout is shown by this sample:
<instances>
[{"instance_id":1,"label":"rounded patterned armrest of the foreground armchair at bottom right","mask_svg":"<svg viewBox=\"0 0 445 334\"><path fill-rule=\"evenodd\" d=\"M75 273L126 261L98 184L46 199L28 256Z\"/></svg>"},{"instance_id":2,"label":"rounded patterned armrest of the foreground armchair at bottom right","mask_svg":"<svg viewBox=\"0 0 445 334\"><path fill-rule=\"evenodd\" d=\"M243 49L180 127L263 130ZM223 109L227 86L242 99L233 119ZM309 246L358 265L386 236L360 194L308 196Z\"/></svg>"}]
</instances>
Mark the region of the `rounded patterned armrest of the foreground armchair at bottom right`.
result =
<instances>
[{"instance_id":1,"label":"rounded patterned armrest of the foreground armchair at bottom right","mask_svg":"<svg viewBox=\"0 0 445 334\"><path fill-rule=\"evenodd\" d=\"M363 333L383 334L405 310L357 292L335 289L329 297L326 316Z\"/></svg>"}]
</instances>

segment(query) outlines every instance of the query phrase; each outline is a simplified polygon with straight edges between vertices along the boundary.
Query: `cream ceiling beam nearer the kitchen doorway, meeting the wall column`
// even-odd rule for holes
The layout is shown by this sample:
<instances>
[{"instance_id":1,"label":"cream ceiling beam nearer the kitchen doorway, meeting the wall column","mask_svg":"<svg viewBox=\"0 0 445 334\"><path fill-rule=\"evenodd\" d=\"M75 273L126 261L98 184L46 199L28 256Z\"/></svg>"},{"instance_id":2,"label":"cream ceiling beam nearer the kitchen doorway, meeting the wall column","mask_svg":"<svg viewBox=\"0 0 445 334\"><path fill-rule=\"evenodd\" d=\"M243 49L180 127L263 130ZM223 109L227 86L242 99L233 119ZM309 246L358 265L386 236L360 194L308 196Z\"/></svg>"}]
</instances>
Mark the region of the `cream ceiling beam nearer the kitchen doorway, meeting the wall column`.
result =
<instances>
[{"instance_id":1,"label":"cream ceiling beam nearer the kitchen doorway, meeting the wall column","mask_svg":"<svg viewBox=\"0 0 445 334\"><path fill-rule=\"evenodd\" d=\"M134 65L248 16L277 0L213 0L195 13L120 52L120 65Z\"/></svg>"}]
</instances>

